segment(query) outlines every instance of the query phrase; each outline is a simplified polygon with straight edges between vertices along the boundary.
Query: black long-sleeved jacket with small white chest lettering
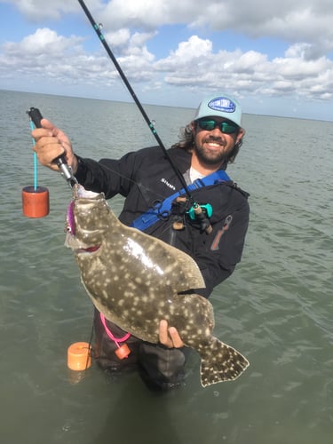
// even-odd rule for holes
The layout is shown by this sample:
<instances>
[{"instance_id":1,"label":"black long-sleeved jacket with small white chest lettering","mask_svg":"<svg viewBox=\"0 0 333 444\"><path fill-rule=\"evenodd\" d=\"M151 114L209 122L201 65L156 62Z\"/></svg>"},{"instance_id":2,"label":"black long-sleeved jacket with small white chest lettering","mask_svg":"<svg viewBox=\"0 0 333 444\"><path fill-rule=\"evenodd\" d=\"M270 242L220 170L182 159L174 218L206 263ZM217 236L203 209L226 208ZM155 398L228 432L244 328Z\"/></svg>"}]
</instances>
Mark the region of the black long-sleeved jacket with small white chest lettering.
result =
<instances>
[{"instance_id":1,"label":"black long-sleeved jacket with small white chest lettering","mask_svg":"<svg viewBox=\"0 0 333 444\"><path fill-rule=\"evenodd\" d=\"M191 155L180 148L168 151L173 163L184 174L190 168ZM161 147L149 147L128 153L120 160L79 159L77 180L86 189L104 192L109 199L115 194L126 197L119 219L130 226L132 220L145 213L156 201L163 201L182 188ZM233 182L204 186L191 193L197 203L210 203L212 233L202 232L196 223L186 219L186 228L175 231L173 220L161 220L147 229L194 258L202 271L206 289L197 293L209 297L212 289L233 273L241 260L249 223L248 194Z\"/></svg>"}]
</instances>

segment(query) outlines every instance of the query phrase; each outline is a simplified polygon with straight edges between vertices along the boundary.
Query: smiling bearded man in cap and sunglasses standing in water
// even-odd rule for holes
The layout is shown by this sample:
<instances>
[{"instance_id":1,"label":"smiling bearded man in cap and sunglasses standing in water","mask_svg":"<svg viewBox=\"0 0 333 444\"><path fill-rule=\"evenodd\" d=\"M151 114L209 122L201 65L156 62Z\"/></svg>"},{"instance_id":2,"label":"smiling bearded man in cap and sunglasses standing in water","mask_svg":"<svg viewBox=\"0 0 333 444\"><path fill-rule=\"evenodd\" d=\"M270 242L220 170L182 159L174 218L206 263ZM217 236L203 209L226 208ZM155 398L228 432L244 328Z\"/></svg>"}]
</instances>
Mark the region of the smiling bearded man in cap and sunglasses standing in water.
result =
<instances>
[{"instance_id":1,"label":"smiling bearded man in cap and sunglasses standing in water","mask_svg":"<svg viewBox=\"0 0 333 444\"><path fill-rule=\"evenodd\" d=\"M65 155L75 178L86 189L104 192L107 199L115 194L125 196L119 216L123 224L137 226L192 256L206 284L205 289L195 292L209 297L241 260L249 223L248 194L228 178L218 178L194 189L191 195L203 209L203 225L202 218L191 213L186 199L173 201L167 211L163 202L185 183L188 186L196 179L205 180L234 162L245 133L241 119L239 102L224 93L216 94L202 100L193 122L183 129L179 142L168 150L167 156L161 147L148 147L120 160L99 162L75 155L67 136L46 119L42 120L42 128L32 134L42 164L58 170L53 161ZM146 218L142 215L152 208L158 212L159 205L162 214L152 225L145 226L142 220ZM158 345L127 337L126 332L103 319L97 310L94 326L95 355L103 369L138 368L149 385L162 389L178 386L183 380L187 349L177 329L166 321L161 320ZM123 341L131 353L121 361L115 351Z\"/></svg>"}]
</instances>

